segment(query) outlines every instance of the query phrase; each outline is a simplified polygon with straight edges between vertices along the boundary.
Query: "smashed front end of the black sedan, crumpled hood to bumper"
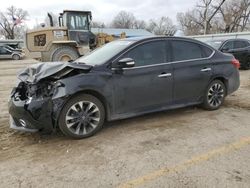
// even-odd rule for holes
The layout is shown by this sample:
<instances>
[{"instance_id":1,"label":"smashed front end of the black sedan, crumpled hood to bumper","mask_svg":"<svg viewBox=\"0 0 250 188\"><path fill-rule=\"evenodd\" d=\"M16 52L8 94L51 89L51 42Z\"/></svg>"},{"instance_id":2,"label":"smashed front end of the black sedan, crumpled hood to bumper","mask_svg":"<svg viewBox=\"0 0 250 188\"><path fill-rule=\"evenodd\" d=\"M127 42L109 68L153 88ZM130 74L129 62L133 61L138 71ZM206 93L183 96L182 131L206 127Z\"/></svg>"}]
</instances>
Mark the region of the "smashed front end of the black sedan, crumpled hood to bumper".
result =
<instances>
[{"instance_id":1,"label":"smashed front end of the black sedan, crumpled hood to bumper","mask_svg":"<svg viewBox=\"0 0 250 188\"><path fill-rule=\"evenodd\" d=\"M61 93L64 85L59 80L90 70L91 66L60 62L37 64L24 69L18 75L19 84L11 93L9 112L12 119L17 126L20 120L25 119L26 129L55 130L67 97L66 93Z\"/></svg>"}]
</instances>

